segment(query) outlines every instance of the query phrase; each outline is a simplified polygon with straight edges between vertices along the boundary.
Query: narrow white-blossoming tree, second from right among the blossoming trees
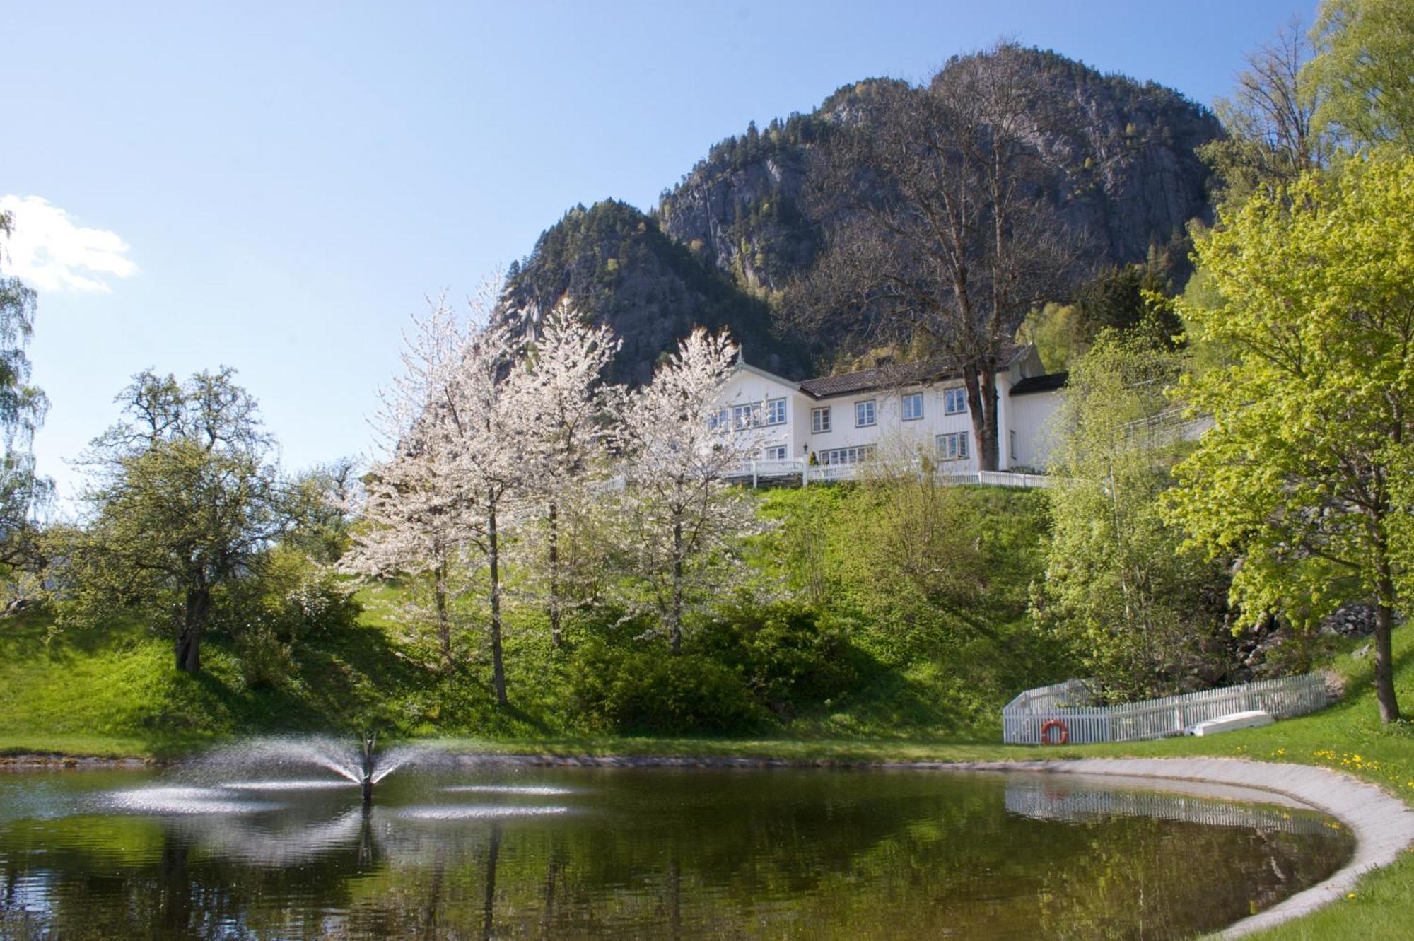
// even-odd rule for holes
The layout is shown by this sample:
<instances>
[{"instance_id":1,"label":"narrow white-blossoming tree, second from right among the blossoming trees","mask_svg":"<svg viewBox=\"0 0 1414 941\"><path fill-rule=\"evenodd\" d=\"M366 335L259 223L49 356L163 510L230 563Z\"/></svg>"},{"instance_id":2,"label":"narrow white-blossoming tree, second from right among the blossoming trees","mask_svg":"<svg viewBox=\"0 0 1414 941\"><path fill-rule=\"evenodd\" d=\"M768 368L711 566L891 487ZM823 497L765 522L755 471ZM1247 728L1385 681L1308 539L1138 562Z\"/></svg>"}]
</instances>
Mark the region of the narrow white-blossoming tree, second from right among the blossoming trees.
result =
<instances>
[{"instance_id":1,"label":"narrow white-blossoming tree, second from right among the blossoming trees","mask_svg":"<svg viewBox=\"0 0 1414 941\"><path fill-rule=\"evenodd\" d=\"M564 545L605 479L609 418L618 387L602 384L619 341L607 326L590 326L561 301L540 328L540 338L519 373L523 403L526 485L543 521L546 616L550 646L564 641L563 615L568 582L581 584L585 558L575 543ZM566 552L566 548L570 552ZM540 560L534 560L539 562Z\"/></svg>"}]
</instances>

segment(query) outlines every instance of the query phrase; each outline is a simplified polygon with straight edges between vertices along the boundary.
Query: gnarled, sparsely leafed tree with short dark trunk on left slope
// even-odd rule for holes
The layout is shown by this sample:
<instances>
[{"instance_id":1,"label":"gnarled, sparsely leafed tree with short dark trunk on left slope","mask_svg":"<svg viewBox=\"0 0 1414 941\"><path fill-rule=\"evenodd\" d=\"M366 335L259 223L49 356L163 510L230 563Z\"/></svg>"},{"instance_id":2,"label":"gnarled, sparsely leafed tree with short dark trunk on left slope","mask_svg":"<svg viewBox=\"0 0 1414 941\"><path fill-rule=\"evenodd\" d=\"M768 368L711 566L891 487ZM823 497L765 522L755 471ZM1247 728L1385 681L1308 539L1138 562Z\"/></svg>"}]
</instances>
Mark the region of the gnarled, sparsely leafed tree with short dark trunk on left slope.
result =
<instances>
[{"instance_id":1,"label":"gnarled, sparsely leafed tree with short dark trunk on left slope","mask_svg":"<svg viewBox=\"0 0 1414 941\"><path fill-rule=\"evenodd\" d=\"M123 421L86 455L88 519L62 547L71 612L165 612L187 673L201 670L218 595L259 574L294 519L273 441L233 374L133 377L117 397Z\"/></svg>"}]
</instances>

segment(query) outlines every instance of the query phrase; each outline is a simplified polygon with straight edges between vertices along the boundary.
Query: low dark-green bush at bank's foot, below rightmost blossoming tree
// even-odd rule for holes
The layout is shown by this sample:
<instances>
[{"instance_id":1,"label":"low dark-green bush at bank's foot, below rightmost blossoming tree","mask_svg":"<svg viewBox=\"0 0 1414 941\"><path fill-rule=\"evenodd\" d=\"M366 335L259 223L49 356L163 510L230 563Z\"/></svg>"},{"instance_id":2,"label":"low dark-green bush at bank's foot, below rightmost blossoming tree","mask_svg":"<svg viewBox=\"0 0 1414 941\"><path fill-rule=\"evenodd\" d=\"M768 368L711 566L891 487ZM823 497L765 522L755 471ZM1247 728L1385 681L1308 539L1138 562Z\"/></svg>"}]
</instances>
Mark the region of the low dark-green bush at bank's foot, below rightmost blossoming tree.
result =
<instances>
[{"instance_id":1,"label":"low dark-green bush at bank's foot, below rightmost blossoming tree","mask_svg":"<svg viewBox=\"0 0 1414 941\"><path fill-rule=\"evenodd\" d=\"M734 670L701 654L672 656L662 644L585 641L574 651L570 698L591 732L737 733L768 721Z\"/></svg>"}]
</instances>

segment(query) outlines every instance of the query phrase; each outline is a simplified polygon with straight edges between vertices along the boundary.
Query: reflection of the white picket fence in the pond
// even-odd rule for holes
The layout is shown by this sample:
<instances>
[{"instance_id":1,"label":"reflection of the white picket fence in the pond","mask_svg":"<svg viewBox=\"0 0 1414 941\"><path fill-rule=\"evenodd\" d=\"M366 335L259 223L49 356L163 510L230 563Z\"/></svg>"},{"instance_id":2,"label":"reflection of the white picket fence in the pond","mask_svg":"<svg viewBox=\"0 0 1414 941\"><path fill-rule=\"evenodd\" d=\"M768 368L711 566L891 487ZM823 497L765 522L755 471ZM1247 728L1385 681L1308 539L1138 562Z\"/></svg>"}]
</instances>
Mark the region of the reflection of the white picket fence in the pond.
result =
<instances>
[{"instance_id":1,"label":"reflection of the white picket fence in the pond","mask_svg":"<svg viewBox=\"0 0 1414 941\"><path fill-rule=\"evenodd\" d=\"M1165 794L1161 791L1111 791L1069 783L1007 783L1007 810L1035 819L1085 822L1097 817L1152 817L1208 827L1253 827L1288 834L1321 834L1326 821L1280 807L1253 807L1226 800Z\"/></svg>"}]
</instances>

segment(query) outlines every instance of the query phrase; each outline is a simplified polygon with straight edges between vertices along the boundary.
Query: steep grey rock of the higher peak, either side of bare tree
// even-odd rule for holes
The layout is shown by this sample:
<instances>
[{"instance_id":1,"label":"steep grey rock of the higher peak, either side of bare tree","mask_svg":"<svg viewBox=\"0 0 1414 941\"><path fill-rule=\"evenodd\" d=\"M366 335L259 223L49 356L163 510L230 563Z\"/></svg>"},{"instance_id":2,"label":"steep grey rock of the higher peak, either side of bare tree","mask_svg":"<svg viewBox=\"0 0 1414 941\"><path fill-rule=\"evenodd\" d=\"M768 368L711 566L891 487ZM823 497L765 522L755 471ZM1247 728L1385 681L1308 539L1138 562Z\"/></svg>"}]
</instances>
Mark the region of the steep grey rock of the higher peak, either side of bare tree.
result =
<instances>
[{"instance_id":1,"label":"steep grey rock of the higher peak, either side of bare tree","mask_svg":"<svg viewBox=\"0 0 1414 941\"><path fill-rule=\"evenodd\" d=\"M1209 171L1195 154L1222 136L1208 109L1053 52L1028 55L1042 75L1032 97L1034 144L1062 168L1062 209L1099 260L1143 261L1151 244L1210 215ZM782 287L814 260L829 215L847 212L850 194L802 198L817 182L829 124L867 127L881 93L898 85L847 85L810 114L717 144L663 195L663 230L742 284Z\"/></svg>"}]
</instances>

